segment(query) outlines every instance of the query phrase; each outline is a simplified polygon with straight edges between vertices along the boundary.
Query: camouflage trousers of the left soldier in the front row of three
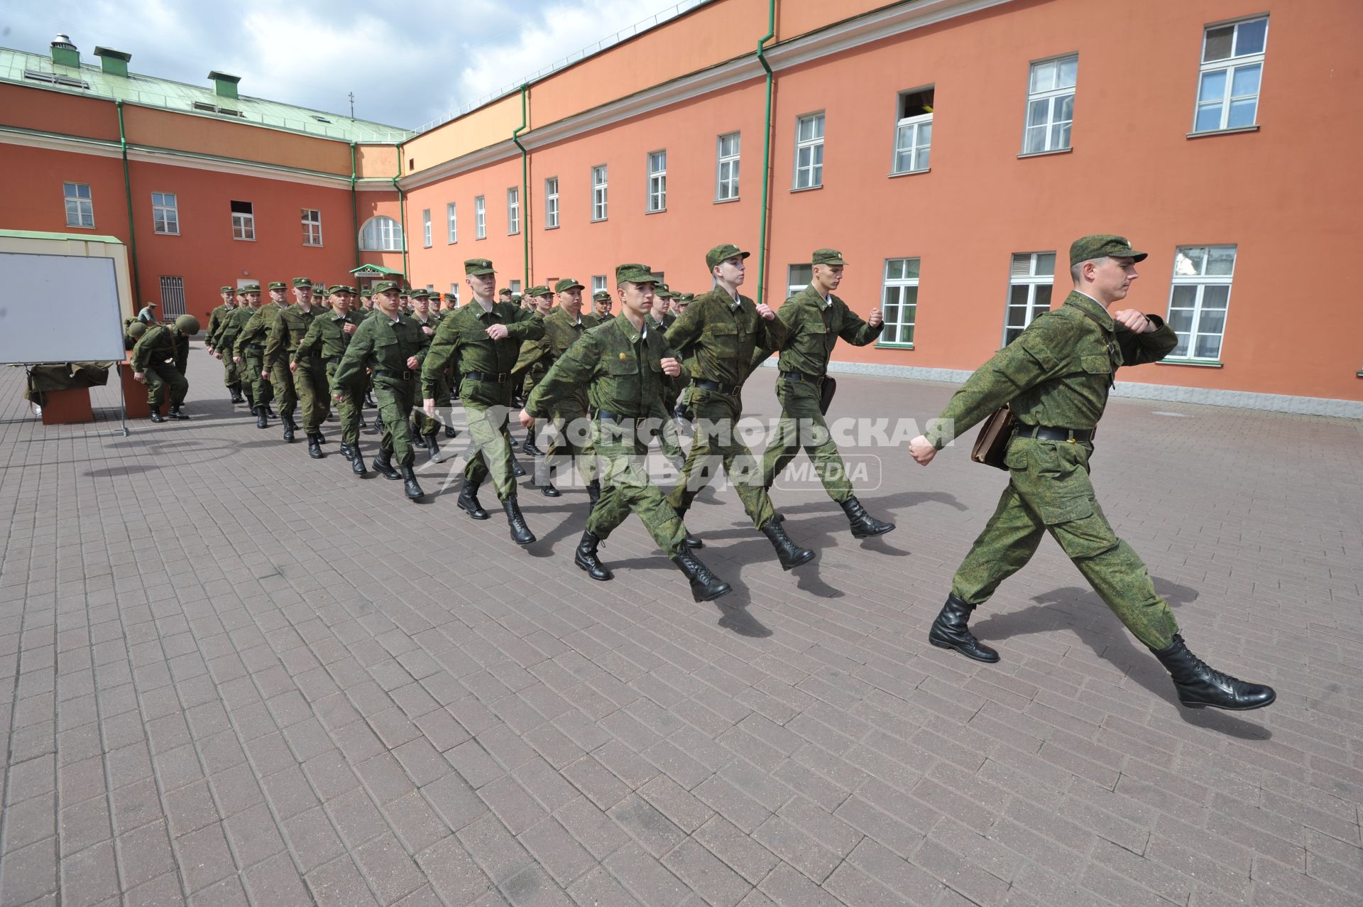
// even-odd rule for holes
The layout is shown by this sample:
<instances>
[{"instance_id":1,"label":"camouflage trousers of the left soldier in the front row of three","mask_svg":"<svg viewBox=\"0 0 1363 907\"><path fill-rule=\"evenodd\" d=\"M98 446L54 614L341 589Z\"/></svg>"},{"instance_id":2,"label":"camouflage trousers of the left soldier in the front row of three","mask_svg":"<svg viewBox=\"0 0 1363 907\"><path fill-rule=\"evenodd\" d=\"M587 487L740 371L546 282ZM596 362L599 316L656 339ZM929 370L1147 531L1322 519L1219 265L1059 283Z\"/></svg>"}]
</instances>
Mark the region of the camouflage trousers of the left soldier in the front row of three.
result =
<instances>
[{"instance_id":1,"label":"camouflage trousers of the left soldier in the front row of three","mask_svg":"<svg viewBox=\"0 0 1363 907\"><path fill-rule=\"evenodd\" d=\"M592 446L601 472L601 499L587 517L587 532L605 539L630 513L639 514L653 541L669 558L686 543L686 526L676 509L649 481L645 456L632 420L624 424L593 420Z\"/></svg>"}]
</instances>

